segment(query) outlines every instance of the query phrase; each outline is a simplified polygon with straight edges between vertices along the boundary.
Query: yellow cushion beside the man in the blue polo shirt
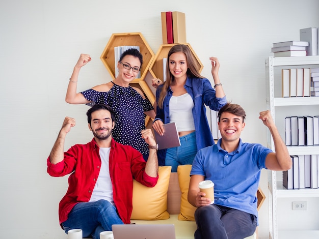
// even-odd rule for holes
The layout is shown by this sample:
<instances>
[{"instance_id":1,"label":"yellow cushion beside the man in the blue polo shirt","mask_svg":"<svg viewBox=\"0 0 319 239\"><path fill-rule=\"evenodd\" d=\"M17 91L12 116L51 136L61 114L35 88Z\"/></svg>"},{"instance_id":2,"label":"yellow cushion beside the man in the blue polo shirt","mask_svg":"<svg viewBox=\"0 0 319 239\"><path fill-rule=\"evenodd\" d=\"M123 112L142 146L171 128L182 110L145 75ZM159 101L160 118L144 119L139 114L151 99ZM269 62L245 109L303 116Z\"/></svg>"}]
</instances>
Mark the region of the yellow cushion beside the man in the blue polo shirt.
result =
<instances>
[{"instance_id":1,"label":"yellow cushion beside the man in the blue polo shirt","mask_svg":"<svg viewBox=\"0 0 319 239\"><path fill-rule=\"evenodd\" d=\"M193 206L187 200L187 195L190 186L190 172L192 165L179 165L177 167L178 183L181 191L180 198L180 213L178 215L178 220L183 221L195 221L194 213L197 207Z\"/></svg>"}]
</instances>

